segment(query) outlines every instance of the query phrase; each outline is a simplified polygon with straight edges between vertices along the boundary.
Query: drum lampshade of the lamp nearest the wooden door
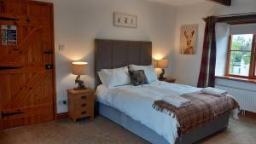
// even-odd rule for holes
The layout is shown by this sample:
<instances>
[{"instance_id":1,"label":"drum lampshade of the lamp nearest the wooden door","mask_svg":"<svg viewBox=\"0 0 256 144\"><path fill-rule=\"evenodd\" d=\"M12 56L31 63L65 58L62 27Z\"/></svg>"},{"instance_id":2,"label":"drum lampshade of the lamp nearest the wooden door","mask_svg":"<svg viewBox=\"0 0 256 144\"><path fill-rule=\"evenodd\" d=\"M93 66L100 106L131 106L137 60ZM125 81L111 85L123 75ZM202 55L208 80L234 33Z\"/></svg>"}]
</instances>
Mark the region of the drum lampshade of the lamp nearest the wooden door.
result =
<instances>
[{"instance_id":1,"label":"drum lampshade of the lamp nearest the wooden door","mask_svg":"<svg viewBox=\"0 0 256 144\"><path fill-rule=\"evenodd\" d=\"M84 61L72 62L72 73L74 75L85 75L88 63Z\"/></svg>"}]
</instances>

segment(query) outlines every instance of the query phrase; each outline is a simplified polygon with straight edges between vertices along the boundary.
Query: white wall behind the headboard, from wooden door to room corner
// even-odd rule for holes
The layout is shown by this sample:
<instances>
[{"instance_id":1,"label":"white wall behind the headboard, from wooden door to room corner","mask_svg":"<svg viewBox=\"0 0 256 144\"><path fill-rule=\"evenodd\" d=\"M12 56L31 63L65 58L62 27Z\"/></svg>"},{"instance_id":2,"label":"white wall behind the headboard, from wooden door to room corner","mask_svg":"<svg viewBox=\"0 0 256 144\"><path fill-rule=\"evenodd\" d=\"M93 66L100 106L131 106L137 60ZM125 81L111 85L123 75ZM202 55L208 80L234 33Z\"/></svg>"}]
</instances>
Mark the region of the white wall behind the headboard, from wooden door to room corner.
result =
<instances>
[{"instance_id":1,"label":"white wall behind the headboard, from wooden door to room corner","mask_svg":"<svg viewBox=\"0 0 256 144\"><path fill-rule=\"evenodd\" d=\"M42 1L42 0L41 0ZM88 87L94 86L94 39L145 40L153 42L153 56L172 61L175 9L143 0L44 0L55 8L55 66L57 111L67 112L62 100L66 89L75 87L71 74L73 60L89 62L88 76L82 76ZM137 14L138 27L113 27L113 12ZM59 44L65 49L59 51ZM172 73L172 62L166 75Z\"/></svg>"}]
</instances>

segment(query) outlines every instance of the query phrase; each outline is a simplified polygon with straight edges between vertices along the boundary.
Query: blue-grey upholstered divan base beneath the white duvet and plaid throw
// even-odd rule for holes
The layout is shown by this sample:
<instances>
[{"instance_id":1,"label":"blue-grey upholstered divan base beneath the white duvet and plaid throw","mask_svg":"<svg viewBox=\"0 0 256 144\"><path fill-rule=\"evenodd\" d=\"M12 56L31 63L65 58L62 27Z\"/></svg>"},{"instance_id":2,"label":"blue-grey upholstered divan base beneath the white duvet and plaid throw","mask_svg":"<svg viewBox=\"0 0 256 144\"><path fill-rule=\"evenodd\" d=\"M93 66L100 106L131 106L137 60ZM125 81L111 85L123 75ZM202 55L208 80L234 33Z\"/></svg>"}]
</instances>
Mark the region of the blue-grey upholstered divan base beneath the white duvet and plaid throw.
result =
<instances>
[{"instance_id":1,"label":"blue-grey upholstered divan base beneath the white duvet and plaid throw","mask_svg":"<svg viewBox=\"0 0 256 144\"><path fill-rule=\"evenodd\" d=\"M116 124L119 124L125 130L129 130L135 135L138 135L153 144L168 144L168 141L166 141L163 136L158 135L154 130L149 129L147 126L126 115L124 112L120 112L119 110L104 105L101 102L99 102L98 106L100 115L112 120ZM180 136L177 138L175 144L194 143L220 130L225 130L229 125L229 118L230 112L226 112L218 116L218 118L214 118L211 122L202 124L198 129Z\"/></svg>"}]
</instances>

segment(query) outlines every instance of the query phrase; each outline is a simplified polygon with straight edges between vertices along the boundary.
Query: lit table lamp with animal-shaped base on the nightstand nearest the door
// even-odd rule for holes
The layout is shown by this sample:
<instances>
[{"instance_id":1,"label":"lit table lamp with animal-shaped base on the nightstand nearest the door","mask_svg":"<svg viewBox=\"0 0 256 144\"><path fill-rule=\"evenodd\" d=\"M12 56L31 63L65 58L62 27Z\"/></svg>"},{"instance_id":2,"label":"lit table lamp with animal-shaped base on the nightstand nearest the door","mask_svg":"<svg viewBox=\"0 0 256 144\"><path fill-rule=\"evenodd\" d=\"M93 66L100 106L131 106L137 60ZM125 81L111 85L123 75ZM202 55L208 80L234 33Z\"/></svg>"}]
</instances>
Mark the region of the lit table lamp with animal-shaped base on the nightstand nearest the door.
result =
<instances>
[{"instance_id":1,"label":"lit table lamp with animal-shaped base on the nightstand nearest the door","mask_svg":"<svg viewBox=\"0 0 256 144\"><path fill-rule=\"evenodd\" d=\"M76 90L86 89L85 85L84 85L84 81L82 81L80 79L80 76L86 74L87 65L88 65L88 63L84 62L84 61L72 62L72 73L74 75L77 75L77 78L75 80L75 84L79 84L79 86L77 88L74 88Z\"/></svg>"}]
</instances>

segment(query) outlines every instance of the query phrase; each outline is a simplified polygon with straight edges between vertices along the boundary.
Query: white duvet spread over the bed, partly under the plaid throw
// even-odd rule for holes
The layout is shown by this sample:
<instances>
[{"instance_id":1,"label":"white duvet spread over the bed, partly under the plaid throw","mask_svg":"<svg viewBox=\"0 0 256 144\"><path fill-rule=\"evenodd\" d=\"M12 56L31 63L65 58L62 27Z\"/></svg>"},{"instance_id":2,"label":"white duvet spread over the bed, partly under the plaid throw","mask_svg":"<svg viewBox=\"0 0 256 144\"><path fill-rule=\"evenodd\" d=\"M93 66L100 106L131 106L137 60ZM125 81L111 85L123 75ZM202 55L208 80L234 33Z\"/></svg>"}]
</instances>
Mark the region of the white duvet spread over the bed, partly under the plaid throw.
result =
<instances>
[{"instance_id":1,"label":"white duvet spread over the bed, partly under the plaid throw","mask_svg":"<svg viewBox=\"0 0 256 144\"><path fill-rule=\"evenodd\" d=\"M182 84L154 82L140 86L125 85L107 88L99 85L96 90L98 101L125 112L131 118L148 126L166 141L175 143L177 138L177 119L152 108L153 102L163 96L177 96L185 93L200 93L201 89Z\"/></svg>"}]
</instances>

